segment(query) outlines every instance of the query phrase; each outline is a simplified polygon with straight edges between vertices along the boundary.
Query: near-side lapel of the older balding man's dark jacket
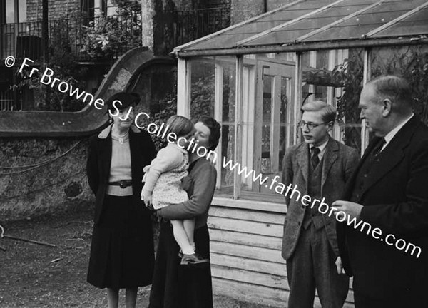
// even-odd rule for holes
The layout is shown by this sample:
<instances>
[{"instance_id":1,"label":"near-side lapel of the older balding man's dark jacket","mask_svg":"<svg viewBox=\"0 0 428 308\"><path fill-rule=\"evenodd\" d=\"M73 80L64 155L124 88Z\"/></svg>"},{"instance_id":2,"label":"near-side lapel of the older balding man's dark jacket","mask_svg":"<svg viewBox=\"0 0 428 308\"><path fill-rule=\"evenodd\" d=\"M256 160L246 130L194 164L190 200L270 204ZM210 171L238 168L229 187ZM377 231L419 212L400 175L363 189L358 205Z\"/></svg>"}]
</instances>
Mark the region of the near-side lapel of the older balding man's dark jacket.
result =
<instances>
[{"instance_id":1,"label":"near-side lapel of the older balding man's dark jacket","mask_svg":"<svg viewBox=\"0 0 428 308\"><path fill-rule=\"evenodd\" d=\"M382 152L379 154L379 159L381 161L373 166L370 172L371 175L369 178L367 178L367 184L362 189L360 200L364 193L369 188L371 188L372 185L384 178L384 176L387 175L387 173L389 173L389 171L392 170L392 168L394 168L404 158L404 148L409 145L418 123L419 120L416 118L416 116L413 116L413 118L410 119L401 130L399 130L397 135L392 138L387 147L382 150ZM379 138L377 138L377 141L379 141Z\"/></svg>"}]
</instances>

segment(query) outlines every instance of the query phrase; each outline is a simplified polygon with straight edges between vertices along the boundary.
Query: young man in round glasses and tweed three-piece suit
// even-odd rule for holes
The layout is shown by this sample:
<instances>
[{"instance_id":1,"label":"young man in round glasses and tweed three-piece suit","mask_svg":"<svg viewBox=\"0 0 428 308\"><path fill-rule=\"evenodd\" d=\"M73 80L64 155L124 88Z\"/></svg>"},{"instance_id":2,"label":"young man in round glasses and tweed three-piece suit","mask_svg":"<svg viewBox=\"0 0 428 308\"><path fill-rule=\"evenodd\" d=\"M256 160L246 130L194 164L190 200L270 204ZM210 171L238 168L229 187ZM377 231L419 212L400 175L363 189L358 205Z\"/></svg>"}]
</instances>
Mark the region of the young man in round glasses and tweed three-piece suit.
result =
<instances>
[{"instance_id":1,"label":"young man in round glasses and tweed three-piece suit","mask_svg":"<svg viewBox=\"0 0 428 308\"><path fill-rule=\"evenodd\" d=\"M322 101L306 103L300 121L305 142L287 150L282 169L282 183L297 185L312 200L325 197L328 205L340 198L360 158L357 150L330 138L335 117L335 108ZM305 205L307 200L290 196L286 202L282 257L287 260L288 307L312 308L315 289L322 307L342 307L349 280L337 272L335 217L323 215L320 203L319 211Z\"/></svg>"}]
</instances>

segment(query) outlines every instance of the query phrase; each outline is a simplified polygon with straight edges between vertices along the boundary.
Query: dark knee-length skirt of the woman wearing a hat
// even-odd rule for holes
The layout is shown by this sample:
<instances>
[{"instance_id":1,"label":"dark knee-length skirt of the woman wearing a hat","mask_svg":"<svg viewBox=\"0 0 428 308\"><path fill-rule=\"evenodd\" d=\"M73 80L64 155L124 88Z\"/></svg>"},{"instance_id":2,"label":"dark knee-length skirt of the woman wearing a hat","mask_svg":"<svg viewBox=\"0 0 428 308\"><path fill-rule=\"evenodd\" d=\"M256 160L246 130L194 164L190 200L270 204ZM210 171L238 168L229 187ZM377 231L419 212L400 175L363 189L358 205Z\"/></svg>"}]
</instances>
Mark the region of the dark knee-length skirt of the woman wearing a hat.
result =
<instances>
[{"instance_id":1,"label":"dark knee-length skirt of the woman wearing a hat","mask_svg":"<svg viewBox=\"0 0 428 308\"><path fill-rule=\"evenodd\" d=\"M106 195L93 227L88 282L99 288L133 288L151 284L154 267L150 215L133 196Z\"/></svg>"}]
</instances>

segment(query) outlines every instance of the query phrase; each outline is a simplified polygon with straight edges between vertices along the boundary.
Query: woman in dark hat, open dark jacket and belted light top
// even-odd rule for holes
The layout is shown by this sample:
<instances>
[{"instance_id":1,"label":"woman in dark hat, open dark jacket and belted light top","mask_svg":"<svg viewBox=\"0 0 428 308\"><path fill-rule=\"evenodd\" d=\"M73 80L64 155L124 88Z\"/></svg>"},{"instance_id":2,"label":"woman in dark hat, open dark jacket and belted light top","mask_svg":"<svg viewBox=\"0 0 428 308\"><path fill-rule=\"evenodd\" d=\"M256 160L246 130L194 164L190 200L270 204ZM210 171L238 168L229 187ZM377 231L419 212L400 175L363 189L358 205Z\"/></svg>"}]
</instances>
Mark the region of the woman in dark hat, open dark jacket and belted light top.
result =
<instances>
[{"instance_id":1,"label":"woman in dark hat, open dark jacket and belted light top","mask_svg":"<svg viewBox=\"0 0 428 308\"><path fill-rule=\"evenodd\" d=\"M107 288L108 307L118 307L122 288L126 307L135 307L138 287L151 284L153 276L151 218L140 193L143 167L156 150L150 135L133 125L139 101L136 94L113 95L108 101L113 124L94 136L89 148L88 182L96 205L88 282Z\"/></svg>"}]
</instances>

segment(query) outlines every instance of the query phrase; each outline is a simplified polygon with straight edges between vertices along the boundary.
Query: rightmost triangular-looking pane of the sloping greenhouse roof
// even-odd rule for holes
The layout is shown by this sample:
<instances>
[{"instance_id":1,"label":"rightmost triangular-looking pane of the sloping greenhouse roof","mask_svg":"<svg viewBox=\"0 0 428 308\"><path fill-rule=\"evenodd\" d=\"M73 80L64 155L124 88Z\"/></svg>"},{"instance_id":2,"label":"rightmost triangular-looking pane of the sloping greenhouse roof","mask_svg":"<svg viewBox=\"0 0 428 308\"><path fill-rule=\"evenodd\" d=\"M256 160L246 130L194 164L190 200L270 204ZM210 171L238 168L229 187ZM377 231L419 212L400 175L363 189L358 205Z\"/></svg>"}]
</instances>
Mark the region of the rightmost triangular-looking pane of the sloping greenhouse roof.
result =
<instances>
[{"instance_id":1,"label":"rightmost triangular-looking pane of the sloping greenhouse roof","mask_svg":"<svg viewBox=\"0 0 428 308\"><path fill-rule=\"evenodd\" d=\"M409 36L428 33L428 8L399 21L372 37Z\"/></svg>"}]
</instances>

